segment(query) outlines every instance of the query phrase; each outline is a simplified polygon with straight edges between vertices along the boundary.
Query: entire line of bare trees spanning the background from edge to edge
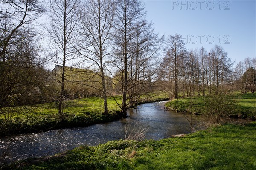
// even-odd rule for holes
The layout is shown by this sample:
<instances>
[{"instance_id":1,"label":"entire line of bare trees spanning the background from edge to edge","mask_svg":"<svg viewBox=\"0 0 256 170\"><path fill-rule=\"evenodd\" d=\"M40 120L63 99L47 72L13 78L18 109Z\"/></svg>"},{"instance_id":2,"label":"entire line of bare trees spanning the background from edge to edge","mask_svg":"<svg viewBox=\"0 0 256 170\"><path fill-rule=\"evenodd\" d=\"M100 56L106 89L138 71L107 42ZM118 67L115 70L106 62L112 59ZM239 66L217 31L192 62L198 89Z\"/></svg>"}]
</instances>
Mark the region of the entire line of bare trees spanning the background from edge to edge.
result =
<instances>
[{"instance_id":1,"label":"entire line of bare trees spanning the background from edge to edge","mask_svg":"<svg viewBox=\"0 0 256 170\"><path fill-rule=\"evenodd\" d=\"M0 108L57 101L62 119L71 93L91 91L104 98L104 114L108 96L121 96L120 115L126 116L149 92L179 98L221 89L255 91L255 58L233 70L221 46L188 50L179 34L164 40L138 0L0 3ZM47 35L35 29L42 14L48 16ZM48 51L38 44L43 38ZM56 65L58 78L47 63Z\"/></svg>"}]
</instances>

